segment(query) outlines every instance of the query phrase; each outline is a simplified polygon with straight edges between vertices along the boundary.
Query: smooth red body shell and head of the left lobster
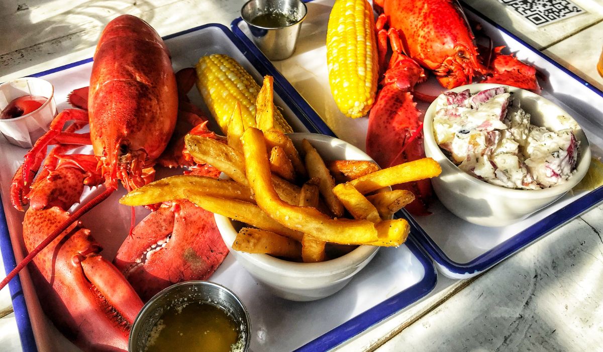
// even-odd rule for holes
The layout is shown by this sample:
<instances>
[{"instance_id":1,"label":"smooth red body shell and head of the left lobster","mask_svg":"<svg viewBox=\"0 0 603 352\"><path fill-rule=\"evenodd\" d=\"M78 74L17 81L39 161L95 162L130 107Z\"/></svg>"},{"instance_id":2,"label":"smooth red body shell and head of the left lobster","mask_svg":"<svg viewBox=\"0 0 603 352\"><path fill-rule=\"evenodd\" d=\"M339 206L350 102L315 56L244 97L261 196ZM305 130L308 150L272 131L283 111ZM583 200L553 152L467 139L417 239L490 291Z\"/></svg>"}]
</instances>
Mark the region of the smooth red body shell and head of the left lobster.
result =
<instances>
[{"instance_id":1,"label":"smooth red body shell and head of the left lobster","mask_svg":"<svg viewBox=\"0 0 603 352\"><path fill-rule=\"evenodd\" d=\"M107 186L116 187L118 178L128 190L146 183L140 168L152 166L168 144L176 92L169 51L156 31L127 14L109 22L96 46L88 96L90 138Z\"/></svg>"}]
</instances>

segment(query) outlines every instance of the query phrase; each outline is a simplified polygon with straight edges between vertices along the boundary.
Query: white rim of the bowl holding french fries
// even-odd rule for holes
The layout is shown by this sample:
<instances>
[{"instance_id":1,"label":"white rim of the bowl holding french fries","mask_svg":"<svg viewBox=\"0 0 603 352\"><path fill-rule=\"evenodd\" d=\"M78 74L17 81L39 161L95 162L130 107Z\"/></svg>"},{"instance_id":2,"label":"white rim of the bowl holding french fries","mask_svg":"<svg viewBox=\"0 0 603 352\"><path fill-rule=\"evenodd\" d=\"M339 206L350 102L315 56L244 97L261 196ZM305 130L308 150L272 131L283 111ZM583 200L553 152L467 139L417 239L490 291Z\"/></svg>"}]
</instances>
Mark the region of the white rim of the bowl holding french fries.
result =
<instances>
[{"instance_id":1,"label":"white rim of the bowl holding french fries","mask_svg":"<svg viewBox=\"0 0 603 352\"><path fill-rule=\"evenodd\" d=\"M306 138L324 142L341 142L346 146L346 148L350 148L353 150L353 152L365 155L367 160L374 162L374 160L370 158L367 153L363 152L358 147L353 146L353 144L343 141L339 138L308 132L297 132L287 134L294 135L294 138L300 139ZM229 241L230 244L227 243L226 245L230 248L232 246L232 242L235 240L236 237L236 231L234 226L232 225L233 220L225 216L221 216L219 214L213 214L213 216L216 221L216 225L218 226L218 229L227 228L229 230L229 234L222 234L222 231L220 231L220 234L222 235L224 242L226 242L226 240ZM230 231L231 229L232 231ZM259 267L262 267L262 269L270 270L271 272L275 272L278 274L283 274L283 270L287 270L287 274L289 276L324 277L332 274L337 274L339 272L344 272L352 267L358 266L358 264L361 264L365 260L371 258L379 250L379 248L379 246L360 245L358 246L358 248L353 249L353 251L350 251L349 253L346 253L341 257L321 261L319 263L298 263L295 261L288 261L272 257L268 254L251 254L245 252L237 252L236 255L241 255L242 257L245 257L246 260L253 262ZM234 250L231 249L231 251Z\"/></svg>"}]
</instances>

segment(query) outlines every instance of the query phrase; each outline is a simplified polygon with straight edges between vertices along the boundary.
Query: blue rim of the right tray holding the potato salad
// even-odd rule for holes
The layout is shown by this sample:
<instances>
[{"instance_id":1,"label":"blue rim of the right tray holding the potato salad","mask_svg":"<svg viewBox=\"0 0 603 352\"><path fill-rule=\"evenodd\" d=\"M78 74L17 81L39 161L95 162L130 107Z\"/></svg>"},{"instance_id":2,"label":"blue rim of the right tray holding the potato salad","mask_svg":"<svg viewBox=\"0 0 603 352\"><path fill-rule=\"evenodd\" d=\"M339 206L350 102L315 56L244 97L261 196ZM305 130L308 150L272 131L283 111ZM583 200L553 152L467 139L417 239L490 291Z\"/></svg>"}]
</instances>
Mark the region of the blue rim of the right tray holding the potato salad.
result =
<instances>
[{"instance_id":1,"label":"blue rim of the right tray holding the potato salad","mask_svg":"<svg viewBox=\"0 0 603 352\"><path fill-rule=\"evenodd\" d=\"M306 2L311 2L311 0ZM514 40L517 40L517 42L521 43L526 48L533 51L535 54L538 54L540 57L542 57L542 59L551 63L556 68L560 69L561 71L572 77L574 80L579 82L581 85L586 86L587 88L589 88L590 90L592 90L603 98L603 92L601 92L596 87L590 85L590 83L586 82L586 80L578 77L578 75L574 74L573 72L569 71L569 69L564 68L559 63L555 62L555 60L552 60L545 54L536 50L524 40L515 36L513 33L510 33L509 31L505 30L505 28L502 28L500 27L500 25L497 25L493 21L490 21L490 19L484 16L484 14L480 13L469 5L463 4L463 7L467 10L472 11L473 14L476 14L476 16L481 18L483 21L487 21L489 24L493 25L500 32L507 34ZM239 39L246 43L249 46L250 50L253 50L256 53L260 53L259 49L257 49L253 42L251 42L251 40L245 35L241 28L239 28L239 22L241 21L242 19L238 18L232 22L231 28L233 30L233 33L235 33L235 35L238 36ZM453 261L405 210L400 211L397 216L405 217L409 220L409 223L411 224L411 236L414 237L415 240L417 240L418 244L429 254L431 258L434 259L435 263L438 267L440 267L440 269L443 270L444 274L452 274L450 276L455 277L470 277L478 274L479 272L482 272L485 269L488 269L491 266L494 266L494 264L499 263L510 255L513 255L517 251L520 251L531 243L534 243L535 241L548 234L549 232L553 231L554 229L559 228L560 226L564 225L565 223L569 222L570 220L574 219L575 217L579 216L590 208L595 207L599 202L601 202L601 200L603 200L603 187L599 188L598 190L592 191L589 194L586 194L586 196L577 199L570 205L565 206L564 208L558 210L551 216L548 216L545 219L535 223L534 225L529 226L529 228L519 232L518 234L509 238L505 242L500 243L499 245L495 246L494 248L490 249L489 251L485 252L484 254L467 263L458 263L456 261ZM446 273L446 271L448 273Z\"/></svg>"}]
</instances>

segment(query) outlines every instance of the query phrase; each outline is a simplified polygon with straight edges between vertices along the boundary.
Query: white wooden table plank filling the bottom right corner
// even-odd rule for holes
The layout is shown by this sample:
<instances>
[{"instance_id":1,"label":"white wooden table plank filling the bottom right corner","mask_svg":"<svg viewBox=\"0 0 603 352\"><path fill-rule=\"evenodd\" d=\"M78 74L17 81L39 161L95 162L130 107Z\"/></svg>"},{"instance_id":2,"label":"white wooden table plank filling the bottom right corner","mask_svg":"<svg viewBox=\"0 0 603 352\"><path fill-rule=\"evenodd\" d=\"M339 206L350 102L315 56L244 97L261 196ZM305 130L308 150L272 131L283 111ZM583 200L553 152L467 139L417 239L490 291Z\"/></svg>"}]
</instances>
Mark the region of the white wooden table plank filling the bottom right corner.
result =
<instances>
[{"instance_id":1,"label":"white wooden table plank filling the bottom right corner","mask_svg":"<svg viewBox=\"0 0 603 352\"><path fill-rule=\"evenodd\" d=\"M601 216L603 206L493 267L378 351L600 350Z\"/></svg>"}]
</instances>

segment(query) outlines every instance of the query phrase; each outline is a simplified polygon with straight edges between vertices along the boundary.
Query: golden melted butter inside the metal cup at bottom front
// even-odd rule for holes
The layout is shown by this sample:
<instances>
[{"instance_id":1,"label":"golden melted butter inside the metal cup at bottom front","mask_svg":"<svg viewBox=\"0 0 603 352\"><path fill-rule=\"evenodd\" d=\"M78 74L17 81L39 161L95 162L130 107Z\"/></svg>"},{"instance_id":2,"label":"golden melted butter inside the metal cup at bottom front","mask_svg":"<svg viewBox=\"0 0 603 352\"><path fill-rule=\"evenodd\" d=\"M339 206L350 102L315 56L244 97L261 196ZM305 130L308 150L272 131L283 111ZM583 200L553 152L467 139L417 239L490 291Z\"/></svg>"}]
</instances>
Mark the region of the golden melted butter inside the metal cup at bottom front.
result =
<instances>
[{"instance_id":1,"label":"golden melted butter inside the metal cup at bottom front","mask_svg":"<svg viewBox=\"0 0 603 352\"><path fill-rule=\"evenodd\" d=\"M146 351L228 352L235 348L235 321L218 307L191 302L169 307L154 325Z\"/></svg>"}]
</instances>

